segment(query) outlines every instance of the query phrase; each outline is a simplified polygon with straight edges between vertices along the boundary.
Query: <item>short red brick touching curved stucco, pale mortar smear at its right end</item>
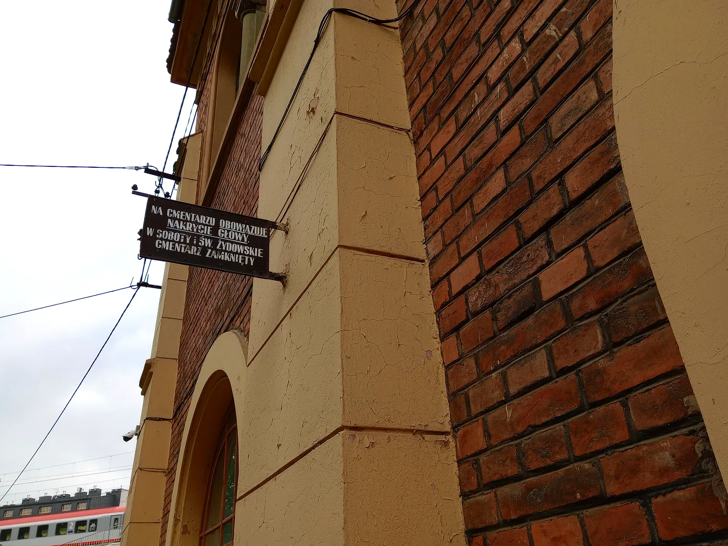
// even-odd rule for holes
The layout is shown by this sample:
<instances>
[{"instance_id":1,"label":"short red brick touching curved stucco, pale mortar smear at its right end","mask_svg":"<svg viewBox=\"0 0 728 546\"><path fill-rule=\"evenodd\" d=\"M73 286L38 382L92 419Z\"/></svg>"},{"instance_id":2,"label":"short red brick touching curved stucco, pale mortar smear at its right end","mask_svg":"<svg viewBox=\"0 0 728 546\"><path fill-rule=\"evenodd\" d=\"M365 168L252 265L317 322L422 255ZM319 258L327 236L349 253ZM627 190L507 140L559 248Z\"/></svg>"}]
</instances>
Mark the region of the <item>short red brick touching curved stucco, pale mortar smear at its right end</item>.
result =
<instances>
[{"instance_id":1,"label":"short red brick touching curved stucco, pale mortar smear at its right end","mask_svg":"<svg viewBox=\"0 0 728 546\"><path fill-rule=\"evenodd\" d=\"M649 430L700 414L687 375L630 396L629 405L637 430Z\"/></svg>"}]
</instances>

